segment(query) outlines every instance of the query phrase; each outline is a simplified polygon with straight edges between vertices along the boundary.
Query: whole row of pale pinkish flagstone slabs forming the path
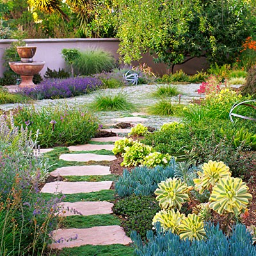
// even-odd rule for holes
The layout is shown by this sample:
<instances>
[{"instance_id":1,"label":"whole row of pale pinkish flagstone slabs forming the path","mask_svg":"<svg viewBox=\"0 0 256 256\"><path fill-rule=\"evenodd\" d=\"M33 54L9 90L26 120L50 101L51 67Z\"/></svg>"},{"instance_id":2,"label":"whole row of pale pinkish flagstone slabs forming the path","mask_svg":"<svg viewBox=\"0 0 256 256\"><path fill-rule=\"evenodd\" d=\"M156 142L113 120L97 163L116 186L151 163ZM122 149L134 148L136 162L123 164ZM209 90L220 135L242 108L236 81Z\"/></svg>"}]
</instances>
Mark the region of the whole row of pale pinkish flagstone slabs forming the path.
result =
<instances>
[{"instance_id":1,"label":"whole row of pale pinkish flagstone slabs forming the path","mask_svg":"<svg viewBox=\"0 0 256 256\"><path fill-rule=\"evenodd\" d=\"M122 130L122 129L119 129ZM97 138L93 141L116 141L122 140L122 137ZM93 146L93 147L92 147ZM110 147L109 147L110 146ZM70 151L95 150L97 148L111 150L113 145L78 145L69 147ZM93 148L93 149L92 149ZM105 156L97 154L63 154L60 159L65 161L113 161L115 156ZM57 168L51 175L58 176L84 176L84 175L109 175L109 166L101 165L84 165L84 166L66 166ZM100 182L65 182L56 181L46 183L41 193L62 192L65 194L72 193L90 193L102 189L110 189L112 181ZM60 207L60 215L63 217L74 215L95 215L95 214L112 214L113 204L109 202L63 202ZM95 223L97 225L97 223ZM118 225L100 226L92 228L66 228L54 230L52 233L55 243L49 245L52 249L73 248L86 244L106 245L106 244L129 244L131 239L125 235L122 227ZM85 254L84 254L85 255Z\"/></svg>"}]
</instances>

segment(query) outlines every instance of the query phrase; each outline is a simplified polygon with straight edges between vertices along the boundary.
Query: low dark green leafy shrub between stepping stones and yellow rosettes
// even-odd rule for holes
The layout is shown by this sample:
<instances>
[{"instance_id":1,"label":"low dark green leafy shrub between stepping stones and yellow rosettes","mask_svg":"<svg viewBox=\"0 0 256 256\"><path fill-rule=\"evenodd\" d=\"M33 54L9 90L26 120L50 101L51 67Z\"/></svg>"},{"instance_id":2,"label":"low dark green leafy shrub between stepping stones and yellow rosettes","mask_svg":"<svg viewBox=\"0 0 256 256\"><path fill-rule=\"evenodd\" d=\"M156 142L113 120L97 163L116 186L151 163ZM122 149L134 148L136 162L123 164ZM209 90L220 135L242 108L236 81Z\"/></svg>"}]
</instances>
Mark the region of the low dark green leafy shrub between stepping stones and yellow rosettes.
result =
<instances>
[{"instance_id":1,"label":"low dark green leafy shrub between stepping stones and yellow rosettes","mask_svg":"<svg viewBox=\"0 0 256 256\"><path fill-rule=\"evenodd\" d=\"M152 218L160 208L153 196L129 196L118 200L113 212L122 216L122 226L128 235L136 230L142 237L152 228Z\"/></svg>"}]
</instances>

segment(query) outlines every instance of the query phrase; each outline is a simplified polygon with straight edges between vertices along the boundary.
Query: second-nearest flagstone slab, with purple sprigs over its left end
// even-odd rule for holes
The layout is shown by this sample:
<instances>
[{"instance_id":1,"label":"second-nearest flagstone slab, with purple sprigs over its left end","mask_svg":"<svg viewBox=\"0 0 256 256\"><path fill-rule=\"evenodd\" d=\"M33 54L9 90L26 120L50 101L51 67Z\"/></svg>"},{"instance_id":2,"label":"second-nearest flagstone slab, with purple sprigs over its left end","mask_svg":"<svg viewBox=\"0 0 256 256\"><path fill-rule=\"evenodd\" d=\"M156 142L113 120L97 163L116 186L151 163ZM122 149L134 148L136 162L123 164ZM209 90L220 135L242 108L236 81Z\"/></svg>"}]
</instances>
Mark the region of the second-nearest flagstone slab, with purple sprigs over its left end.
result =
<instances>
[{"instance_id":1,"label":"second-nearest flagstone slab, with purple sprigs over its left end","mask_svg":"<svg viewBox=\"0 0 256 256\"><path fill-rule=\"evenodd\" d=\"M61 216L111 214L113 205L109 202L64 202L61 203L60 214Z\"/></svg>"}]
</instances>

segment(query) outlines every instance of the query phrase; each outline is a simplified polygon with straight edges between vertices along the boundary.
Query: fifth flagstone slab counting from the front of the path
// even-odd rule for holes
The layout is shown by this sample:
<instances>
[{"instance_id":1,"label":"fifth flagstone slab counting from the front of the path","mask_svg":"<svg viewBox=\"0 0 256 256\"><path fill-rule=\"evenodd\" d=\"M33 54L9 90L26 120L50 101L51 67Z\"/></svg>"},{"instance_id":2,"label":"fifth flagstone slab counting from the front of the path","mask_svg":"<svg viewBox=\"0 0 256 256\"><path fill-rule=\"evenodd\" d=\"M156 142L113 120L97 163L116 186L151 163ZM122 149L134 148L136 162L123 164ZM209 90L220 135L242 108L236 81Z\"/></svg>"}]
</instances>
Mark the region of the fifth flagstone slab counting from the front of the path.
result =
<instances>
[{"instance_id":1,"label":"fifth flagstone slab counting from the front of the path","mask_svg":"<svg viewBox=\"0 0 256 256\"><path fill-rule=\"evenodd\" d=\"M113 161L115 156L97 154L63 154L60 159L65 161L88 162L88 161Z\"/></svg>"}]
</instances>

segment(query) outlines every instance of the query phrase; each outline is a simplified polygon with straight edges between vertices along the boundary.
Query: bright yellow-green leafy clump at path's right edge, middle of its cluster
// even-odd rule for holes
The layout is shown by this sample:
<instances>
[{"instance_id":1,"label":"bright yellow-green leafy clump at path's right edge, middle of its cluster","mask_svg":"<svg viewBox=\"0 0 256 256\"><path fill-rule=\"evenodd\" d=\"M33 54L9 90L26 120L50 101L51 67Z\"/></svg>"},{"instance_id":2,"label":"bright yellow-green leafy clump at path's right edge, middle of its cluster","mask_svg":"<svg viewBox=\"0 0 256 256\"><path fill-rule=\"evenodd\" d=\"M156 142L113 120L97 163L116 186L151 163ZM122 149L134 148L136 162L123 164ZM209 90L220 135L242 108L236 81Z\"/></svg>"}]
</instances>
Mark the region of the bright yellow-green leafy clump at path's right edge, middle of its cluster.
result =
<instances>
[{"instance_id":1,"label":"bright yellow-green leafy clump at path's right edge, middle of its cluster","mask_svg":"<svg viewBox=\"0 0 256 256\"><path fill-rule=\"evenodd\" d=\"M145 157L153 151L153 148L135 141L131 147L125 147L124 150L125 153L122 154L124 161L121 166L129 167L143 164Z\"/></svg>"}]
</instances>

